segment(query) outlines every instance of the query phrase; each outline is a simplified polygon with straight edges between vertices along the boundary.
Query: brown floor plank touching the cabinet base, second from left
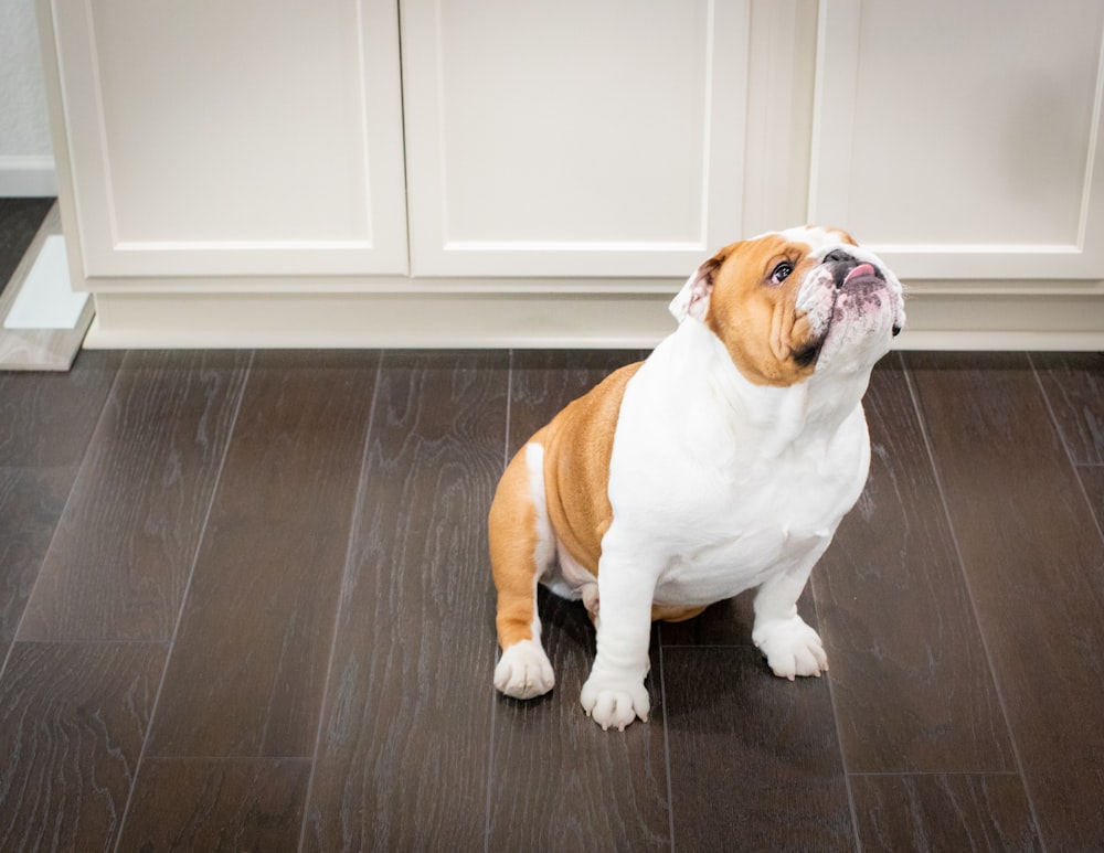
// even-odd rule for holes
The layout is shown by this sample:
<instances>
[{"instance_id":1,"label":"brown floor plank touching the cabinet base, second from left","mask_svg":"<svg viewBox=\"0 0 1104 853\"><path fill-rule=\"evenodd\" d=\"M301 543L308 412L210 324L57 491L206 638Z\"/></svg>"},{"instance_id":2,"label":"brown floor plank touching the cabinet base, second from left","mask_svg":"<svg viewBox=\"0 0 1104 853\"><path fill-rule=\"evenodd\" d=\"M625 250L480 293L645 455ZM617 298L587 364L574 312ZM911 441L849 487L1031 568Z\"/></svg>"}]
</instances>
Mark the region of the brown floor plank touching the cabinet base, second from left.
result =
<instances>
[{"instance_id":1,"label":"brown floor plank touching the cabinet base, second from left","mask_svg":"<svg viewBox=\"0 0 1104 853\"><path fill-rule=\"evenodd\" d=\"M19 639L170 639L248 360L217 352L127 356Z\"/></svg>"}]
</instances>

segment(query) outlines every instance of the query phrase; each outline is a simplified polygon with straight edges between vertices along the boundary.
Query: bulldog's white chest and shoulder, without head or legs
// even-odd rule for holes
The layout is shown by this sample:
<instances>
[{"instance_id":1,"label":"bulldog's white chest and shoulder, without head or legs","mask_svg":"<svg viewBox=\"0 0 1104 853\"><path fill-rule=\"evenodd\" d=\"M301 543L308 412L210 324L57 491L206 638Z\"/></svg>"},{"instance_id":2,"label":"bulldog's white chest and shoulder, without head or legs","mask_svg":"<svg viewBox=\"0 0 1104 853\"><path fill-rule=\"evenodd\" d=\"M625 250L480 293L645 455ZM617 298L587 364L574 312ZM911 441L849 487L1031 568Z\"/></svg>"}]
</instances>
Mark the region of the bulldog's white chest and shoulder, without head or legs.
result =
<instances>
[{"instance_id":1,"label":"bulldog's white chest and shoulder, without head or legs","mask_svg":"<svg viewBox=\"0 0 1104 853\"><path fill-rule=\"evenodd\" d=\"M708 377L672 377L668 364L645 365L622 406L607 535L638 556L611 568L650 571L658 604L694 606L819 557L866 482L861 406L821 428L800 391L771 390L764 428L726 409Z\"/></svg>"}]
</instances>

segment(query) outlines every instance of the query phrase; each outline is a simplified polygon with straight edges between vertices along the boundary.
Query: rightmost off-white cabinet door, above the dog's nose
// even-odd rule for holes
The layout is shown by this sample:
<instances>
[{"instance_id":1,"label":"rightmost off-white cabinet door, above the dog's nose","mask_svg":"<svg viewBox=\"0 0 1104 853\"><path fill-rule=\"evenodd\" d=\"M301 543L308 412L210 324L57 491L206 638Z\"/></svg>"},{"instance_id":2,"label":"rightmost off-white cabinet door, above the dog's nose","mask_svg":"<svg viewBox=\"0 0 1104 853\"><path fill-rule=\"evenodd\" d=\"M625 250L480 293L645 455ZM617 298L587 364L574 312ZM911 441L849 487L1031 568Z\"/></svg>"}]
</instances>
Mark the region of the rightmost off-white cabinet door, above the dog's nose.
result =
<instances>
[{"instance_id":1,"label":"rightmost off-white cabinet door, above the dog's nose","mask_svg":"<svg viewBox=\"0 0 1104 853\"><path fill-rule=\"evenodd\" d=\"M826 0L810 217L903 276L1104 278L1100 0Z\"/></svg>"}]
</instances>

